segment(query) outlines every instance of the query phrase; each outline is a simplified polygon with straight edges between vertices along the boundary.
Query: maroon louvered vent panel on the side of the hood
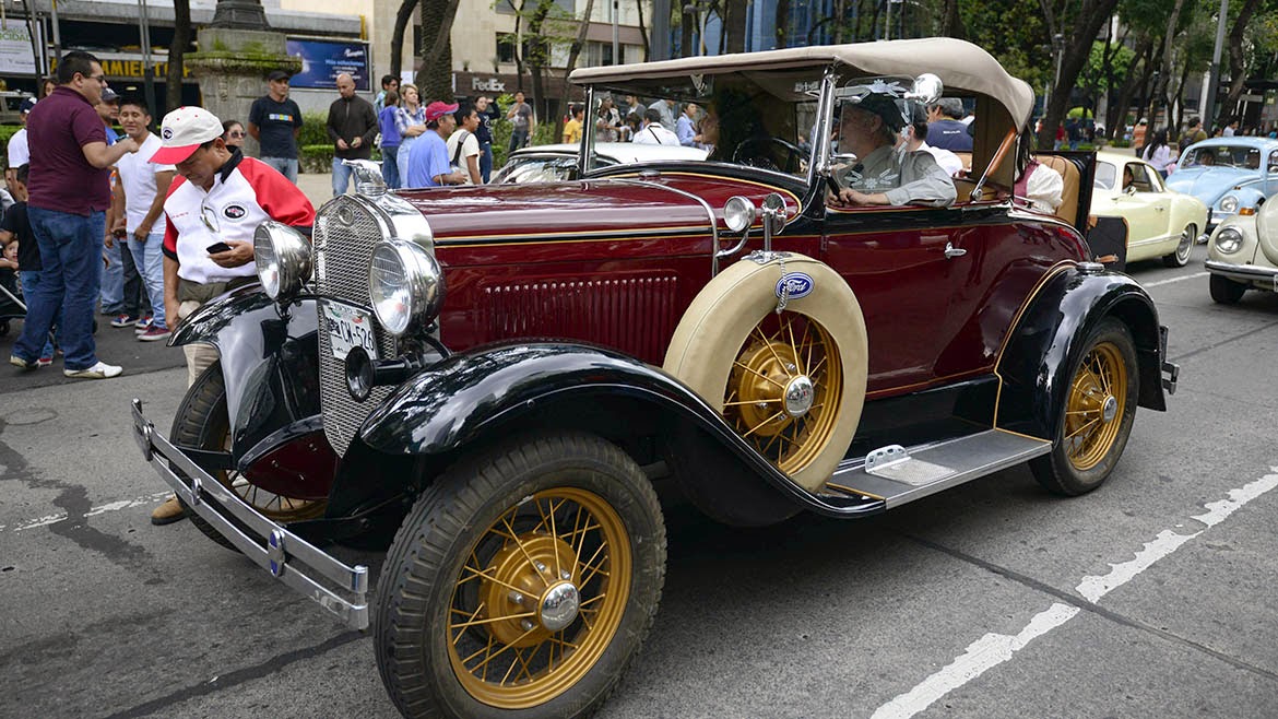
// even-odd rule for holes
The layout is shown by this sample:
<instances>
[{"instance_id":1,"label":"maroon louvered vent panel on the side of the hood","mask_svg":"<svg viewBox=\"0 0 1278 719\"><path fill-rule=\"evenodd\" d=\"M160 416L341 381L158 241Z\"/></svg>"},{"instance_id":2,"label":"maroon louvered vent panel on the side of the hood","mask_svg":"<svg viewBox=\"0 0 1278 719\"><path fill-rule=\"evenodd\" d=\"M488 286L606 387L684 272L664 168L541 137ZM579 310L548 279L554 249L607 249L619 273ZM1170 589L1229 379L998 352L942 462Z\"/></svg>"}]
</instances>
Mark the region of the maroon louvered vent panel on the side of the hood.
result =
<instances>
[{"instance_id":1,"label":"maroon louvered vent panel on the side of the hood","mask_svg":"<svg viewBox=\"0 0 1278 719\"><path fill-rule=\"evenodd\" d=\"M675 333L677 287L674 274L488 287L488 336L580 339L659 365Z\"/></svg>"}]
</instances>

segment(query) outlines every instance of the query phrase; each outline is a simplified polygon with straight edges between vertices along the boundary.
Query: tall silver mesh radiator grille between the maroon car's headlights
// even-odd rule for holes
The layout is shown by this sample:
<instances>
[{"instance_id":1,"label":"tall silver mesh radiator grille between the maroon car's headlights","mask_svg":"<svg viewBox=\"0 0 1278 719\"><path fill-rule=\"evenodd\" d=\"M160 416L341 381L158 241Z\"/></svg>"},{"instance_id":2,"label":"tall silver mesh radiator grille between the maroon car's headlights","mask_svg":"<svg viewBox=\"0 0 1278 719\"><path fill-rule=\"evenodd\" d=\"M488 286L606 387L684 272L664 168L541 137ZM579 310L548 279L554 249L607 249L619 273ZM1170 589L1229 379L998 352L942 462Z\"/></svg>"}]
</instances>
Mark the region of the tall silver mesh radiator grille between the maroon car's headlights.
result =
<instances>
[{"instance_id":1,"label":"tall silver mesh radiator grille between the maroon car's headlights","mask_svg":"<svg viewBox=\"0 0 1278 719\"><path fill-rule=\"evenodd\" d=\"M321 297L343 299L363 307L368 306L368 258L373 244L382 238L382 225L366 207L340 197L321 210L314 226L316 285ZM368 415L395 388L373 388L364 402L355 402L346 391L346 371L343 361L332 356L323 302L320 311L320 400L323 407L323 427L328 443L339 455L346 453L359 426ZM395 338L383 331L373 319L377 353L382 358L395 357Z\"/></svg>"}]
</instances>

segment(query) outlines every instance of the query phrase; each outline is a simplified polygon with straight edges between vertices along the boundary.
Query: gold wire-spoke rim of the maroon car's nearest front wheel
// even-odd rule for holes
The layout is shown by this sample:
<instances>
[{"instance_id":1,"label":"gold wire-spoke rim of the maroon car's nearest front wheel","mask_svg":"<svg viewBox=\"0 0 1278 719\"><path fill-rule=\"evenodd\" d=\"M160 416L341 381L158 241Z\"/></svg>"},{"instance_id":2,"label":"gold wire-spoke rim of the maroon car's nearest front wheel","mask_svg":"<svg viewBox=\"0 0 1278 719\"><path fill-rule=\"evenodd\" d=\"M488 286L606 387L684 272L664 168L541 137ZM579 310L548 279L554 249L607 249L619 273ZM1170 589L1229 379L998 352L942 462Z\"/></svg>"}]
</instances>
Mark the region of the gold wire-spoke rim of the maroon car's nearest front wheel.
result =
<instances>
[{"instance_id":1,"label":"gold wire-spoke rim of the maroon car's nearest front wheel","mask_svg":"<svg viewBox=\"0 0 1278 719\"><path fill-rule=\"evenodd\" d=\"M511 507L472 548L449 606L449 659L477 701L528 709L594 667L621 624L630 537L599 495L555 487Z\"/></svg>"}]
</instances>

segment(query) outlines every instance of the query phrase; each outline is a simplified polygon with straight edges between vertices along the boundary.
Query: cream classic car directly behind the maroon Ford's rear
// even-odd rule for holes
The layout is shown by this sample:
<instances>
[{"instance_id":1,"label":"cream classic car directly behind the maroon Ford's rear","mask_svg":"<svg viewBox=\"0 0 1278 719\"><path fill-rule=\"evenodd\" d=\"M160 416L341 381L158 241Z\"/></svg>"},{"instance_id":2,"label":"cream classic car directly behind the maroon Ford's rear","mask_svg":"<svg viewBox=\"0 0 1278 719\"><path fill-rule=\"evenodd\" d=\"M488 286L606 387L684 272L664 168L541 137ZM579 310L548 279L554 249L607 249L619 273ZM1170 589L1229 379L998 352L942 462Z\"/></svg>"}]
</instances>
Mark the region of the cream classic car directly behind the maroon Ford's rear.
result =
<instances>
[{"instance_id":1,"label":"cream classic car directly behind the maroon Ford's rear","mask_svg":"<svg viewBox=\"0 0 1278 719\"><path fill-rule=\"evenodd\" d=\"M1162 257L1168 267L1189 264L1208 223L1201 200L1168 188L1153 165L1118 152L1097 152L1091 214L1127 221L1128 262Z\"/></svg>"}]
</instances>

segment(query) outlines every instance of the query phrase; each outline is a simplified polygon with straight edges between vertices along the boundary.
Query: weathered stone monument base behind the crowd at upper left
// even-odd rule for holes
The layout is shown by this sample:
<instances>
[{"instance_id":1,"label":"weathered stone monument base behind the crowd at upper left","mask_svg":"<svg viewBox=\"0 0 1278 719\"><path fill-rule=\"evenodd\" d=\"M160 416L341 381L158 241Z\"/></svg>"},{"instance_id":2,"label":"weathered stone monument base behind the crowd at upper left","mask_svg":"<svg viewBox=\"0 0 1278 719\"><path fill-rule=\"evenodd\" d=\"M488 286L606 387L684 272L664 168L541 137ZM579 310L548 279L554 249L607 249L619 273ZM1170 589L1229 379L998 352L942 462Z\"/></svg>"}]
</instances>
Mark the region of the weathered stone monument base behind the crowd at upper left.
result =
<instances>
[{"instance_id":1,"label":"weathered stone monument base behind the crowd at upper left","mask_svg":"<svg viewBox=\"0 0 1278 719\"><path fill-rule=\"evenodd\" d=\"M271 70L296 74L302 59L285 51L284 33L271 29L258 0L217 0L213 22L196 33L198 52L185 64L199 81L204 109L222 120L248 127L248 110L266 95ZM244 154L258 155L257 141L244 138Z\"/></svg>"}]
</instances>

